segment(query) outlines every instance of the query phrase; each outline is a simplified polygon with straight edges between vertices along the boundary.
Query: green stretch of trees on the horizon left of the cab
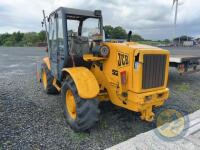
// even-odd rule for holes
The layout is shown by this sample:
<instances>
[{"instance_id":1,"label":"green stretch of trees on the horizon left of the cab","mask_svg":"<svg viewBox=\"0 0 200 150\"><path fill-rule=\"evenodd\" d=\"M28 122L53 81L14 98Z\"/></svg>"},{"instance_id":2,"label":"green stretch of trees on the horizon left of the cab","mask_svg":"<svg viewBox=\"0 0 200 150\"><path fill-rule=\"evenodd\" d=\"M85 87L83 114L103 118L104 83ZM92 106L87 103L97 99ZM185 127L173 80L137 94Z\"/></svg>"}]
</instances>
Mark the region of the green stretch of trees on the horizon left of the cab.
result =
<instances>
[{"instance_id":1,"label":"green stretch of trees on the horizon left of the cab","mask_svg":"<svg viewBox=\"0 0 200 150\"><path fill-rule=\"evenodd\" d=\"M39 42L45 42L45 39L45 31L5 33L0 35L0 46L37 46Z\"/></svg>"}]
</instances>

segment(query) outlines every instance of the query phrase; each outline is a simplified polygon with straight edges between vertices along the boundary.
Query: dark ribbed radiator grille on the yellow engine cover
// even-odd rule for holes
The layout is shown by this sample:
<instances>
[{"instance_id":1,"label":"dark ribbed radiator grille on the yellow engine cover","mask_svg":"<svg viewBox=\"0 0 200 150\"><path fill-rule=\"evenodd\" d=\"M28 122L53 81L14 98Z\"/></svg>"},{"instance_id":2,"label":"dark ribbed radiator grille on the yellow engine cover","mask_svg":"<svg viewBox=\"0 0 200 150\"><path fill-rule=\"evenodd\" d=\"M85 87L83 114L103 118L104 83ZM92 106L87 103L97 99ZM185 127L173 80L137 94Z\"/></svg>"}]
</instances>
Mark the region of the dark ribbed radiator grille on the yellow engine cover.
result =
<instances>
[{"instance_id":1,"label":"dark ribbed radiator grille on the yellow engine cover","mask_svg":"<svg viewBox=\"0 0 200 150\"><path fill-rule=\"evenodd\" d=\"M156 88L164 85L166 55L144 55L142 88Z\"/></svg>"}]
</instances>

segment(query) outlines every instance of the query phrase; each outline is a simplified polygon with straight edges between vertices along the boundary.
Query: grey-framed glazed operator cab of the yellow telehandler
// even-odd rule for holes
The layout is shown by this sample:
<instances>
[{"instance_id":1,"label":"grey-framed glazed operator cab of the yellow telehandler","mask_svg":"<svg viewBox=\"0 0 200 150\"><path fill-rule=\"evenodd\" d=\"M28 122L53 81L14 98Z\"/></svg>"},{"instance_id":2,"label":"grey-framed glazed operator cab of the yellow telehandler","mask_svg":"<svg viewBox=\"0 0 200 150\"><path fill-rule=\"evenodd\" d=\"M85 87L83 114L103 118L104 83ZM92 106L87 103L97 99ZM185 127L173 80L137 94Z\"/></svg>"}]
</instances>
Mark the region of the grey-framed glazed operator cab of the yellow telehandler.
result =
<instances>
[{"instance_id":1,"label":"grey-framed glazed operator cab of the yellow telehandler","mask_svg":"<svg viewBox=\"0 0 200 150\"><path fill-rule=\"evenodd\" d=\"M83 60L83 55L92 53L103 41L101 11L60 7L50 14L48 22L53 75L59 80L63 67L90 65Z\"/></svg>"}]
</instances>

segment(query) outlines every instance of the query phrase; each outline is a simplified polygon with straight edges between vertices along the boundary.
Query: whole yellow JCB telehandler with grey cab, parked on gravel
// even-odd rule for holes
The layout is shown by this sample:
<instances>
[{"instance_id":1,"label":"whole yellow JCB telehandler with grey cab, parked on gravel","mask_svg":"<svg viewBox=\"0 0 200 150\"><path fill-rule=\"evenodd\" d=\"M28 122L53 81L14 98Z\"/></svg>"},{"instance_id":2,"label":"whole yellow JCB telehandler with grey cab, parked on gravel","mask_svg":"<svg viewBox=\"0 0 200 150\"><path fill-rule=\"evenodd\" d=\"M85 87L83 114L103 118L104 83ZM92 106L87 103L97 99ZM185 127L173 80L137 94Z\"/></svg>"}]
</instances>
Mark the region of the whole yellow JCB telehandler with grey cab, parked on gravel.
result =
<instances>
[{"instance_id":1,"label":"whole yellow JCB telehandler with grey cab, parked on gravel","mask_svg":"<svg viewBox=\"0 0 200 150\"><path fill-rule=\"evenodd\" d=\"M43 87L49 94L61 92L64 116L74 131L99 120L101 101L140 112L142 120L154 119L152 108L169 95L169 51L105 42L100 10L60 7L44 14L44 23L49 56L42 63Z\"/></svg>"}]
</instances>

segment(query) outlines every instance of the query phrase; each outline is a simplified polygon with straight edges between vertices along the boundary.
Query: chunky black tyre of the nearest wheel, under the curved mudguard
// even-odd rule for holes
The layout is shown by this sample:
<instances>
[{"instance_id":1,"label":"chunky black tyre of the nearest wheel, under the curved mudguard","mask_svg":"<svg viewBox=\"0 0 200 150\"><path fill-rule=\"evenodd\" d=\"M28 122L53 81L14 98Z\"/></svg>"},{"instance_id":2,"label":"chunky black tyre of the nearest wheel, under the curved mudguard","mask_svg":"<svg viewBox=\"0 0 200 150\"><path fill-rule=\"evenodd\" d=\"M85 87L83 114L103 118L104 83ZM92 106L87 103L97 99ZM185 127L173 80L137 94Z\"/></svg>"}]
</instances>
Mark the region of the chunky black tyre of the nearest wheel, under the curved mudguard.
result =
<instances>
[{"instance_id":1,"label":"chunky black tyre of the nearest wheel, under the curved mudguard","mask_svg":"<svg viewBox=\"0 0 200 150\"><path fill-rule=\"evenodd\" d=\"M76 104L76 118L73 119L68 110L66 104L67 90L71 90ZM66 117L66 121L75 132L85 131L90 129L99 121L99 101L93 99L83 99L78 95L75 83L71 77L67 77L62 84L61 99L63 113Z\"/></svg>"}]
</instances>

